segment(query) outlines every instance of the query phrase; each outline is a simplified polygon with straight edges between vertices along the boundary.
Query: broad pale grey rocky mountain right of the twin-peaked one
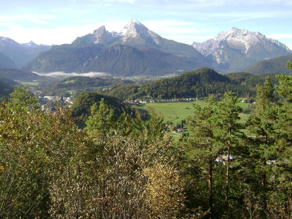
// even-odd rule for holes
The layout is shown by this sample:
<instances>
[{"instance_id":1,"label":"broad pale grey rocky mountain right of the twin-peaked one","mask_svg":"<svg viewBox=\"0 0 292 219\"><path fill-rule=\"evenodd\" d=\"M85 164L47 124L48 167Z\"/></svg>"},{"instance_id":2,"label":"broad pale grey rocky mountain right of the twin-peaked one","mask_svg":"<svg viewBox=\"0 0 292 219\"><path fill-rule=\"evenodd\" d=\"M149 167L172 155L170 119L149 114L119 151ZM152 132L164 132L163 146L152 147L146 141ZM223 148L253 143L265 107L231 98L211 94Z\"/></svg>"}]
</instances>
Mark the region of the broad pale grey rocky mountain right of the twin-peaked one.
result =
<instances>
[{"instance_id":1,"label":"broad pale grey rocky mountain right of the twin-peaked one","mask_svg":"<svg viewBox=\"0 0 292 219\"><path fill-rule=\"evenodd\" d=\"M243 71L258 61L292 54L277 40L235 27L203 43L194 42L192 46L227 72Z\"/></svg>"}]
</instances>

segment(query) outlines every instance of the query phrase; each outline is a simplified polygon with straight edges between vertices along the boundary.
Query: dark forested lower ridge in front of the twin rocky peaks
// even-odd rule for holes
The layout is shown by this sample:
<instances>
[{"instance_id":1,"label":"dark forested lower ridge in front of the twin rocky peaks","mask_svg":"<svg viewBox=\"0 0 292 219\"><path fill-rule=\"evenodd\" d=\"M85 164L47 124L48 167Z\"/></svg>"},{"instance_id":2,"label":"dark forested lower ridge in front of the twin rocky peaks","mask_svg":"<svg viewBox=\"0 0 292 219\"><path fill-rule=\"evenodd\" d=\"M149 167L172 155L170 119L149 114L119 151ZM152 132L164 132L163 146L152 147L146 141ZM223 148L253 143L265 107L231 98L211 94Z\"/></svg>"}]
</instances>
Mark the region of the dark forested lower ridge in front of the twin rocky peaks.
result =
<instances>
[{"instance_id":1,"label":"dark forested lower ridge in front of the twin rocky peaks","mask_svg":"<svg viewBox=\"0 0 292 219\"><path fill-rule=\"evenodd\" d=\"M178 70L203 67L201 62L186 59L154 48L103 44L54 46L40 53L21 69L34 72L104 72L112 76L164 75Z\"/></svg>"}]
</instances>

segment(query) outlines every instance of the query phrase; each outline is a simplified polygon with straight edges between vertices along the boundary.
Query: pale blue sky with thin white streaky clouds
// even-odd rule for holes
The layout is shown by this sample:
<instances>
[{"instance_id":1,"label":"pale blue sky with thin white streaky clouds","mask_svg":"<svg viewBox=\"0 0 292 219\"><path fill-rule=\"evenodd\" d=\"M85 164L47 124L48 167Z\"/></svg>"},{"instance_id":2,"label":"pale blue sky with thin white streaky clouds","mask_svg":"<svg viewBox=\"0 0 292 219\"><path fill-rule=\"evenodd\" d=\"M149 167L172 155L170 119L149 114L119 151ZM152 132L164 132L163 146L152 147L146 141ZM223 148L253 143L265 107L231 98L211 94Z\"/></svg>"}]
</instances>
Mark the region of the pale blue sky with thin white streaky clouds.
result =
<instances>
[{"instance_id":1,"label":"pale blue sky with thin white streaky clouds","mask_svg":"<svg viewBox=\"0 0 292 219\"><path fill-rule=\"evenodd\" d=\"M101 25L119 31L131 19L186 44L237 27L292 49L292 0L0 0L0 36L18 43L70 44Z\"/></svg>"}]
</instances>

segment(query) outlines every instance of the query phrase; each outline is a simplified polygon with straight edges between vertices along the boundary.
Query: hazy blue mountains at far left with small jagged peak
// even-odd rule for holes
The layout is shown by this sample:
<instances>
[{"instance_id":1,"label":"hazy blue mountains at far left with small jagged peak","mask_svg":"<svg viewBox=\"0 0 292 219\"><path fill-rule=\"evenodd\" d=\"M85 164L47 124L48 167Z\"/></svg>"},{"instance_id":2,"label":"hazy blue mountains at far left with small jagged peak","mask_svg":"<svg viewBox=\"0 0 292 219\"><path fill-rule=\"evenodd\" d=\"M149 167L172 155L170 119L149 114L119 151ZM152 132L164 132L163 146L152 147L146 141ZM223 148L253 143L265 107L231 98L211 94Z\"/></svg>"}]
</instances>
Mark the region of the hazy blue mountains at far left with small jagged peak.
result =
<instances>
[{"instance_id":1,"label":"hazy blue mountains at far left with small jagged peak","mask_svg":"<svg viewBox=\"0 0 292 219\"><path fill-rule=\"evenodd\" d=\"M26 62L31 61L41 52L48 51L51 46L37 45L33 41L25 44L19 44L13 39L0 36L0 52L14 62L15 67L19 68ZM2 58L0 57L0 63ZM6 67L13 67L9 65Z\"/></svg>"}]
</instances>

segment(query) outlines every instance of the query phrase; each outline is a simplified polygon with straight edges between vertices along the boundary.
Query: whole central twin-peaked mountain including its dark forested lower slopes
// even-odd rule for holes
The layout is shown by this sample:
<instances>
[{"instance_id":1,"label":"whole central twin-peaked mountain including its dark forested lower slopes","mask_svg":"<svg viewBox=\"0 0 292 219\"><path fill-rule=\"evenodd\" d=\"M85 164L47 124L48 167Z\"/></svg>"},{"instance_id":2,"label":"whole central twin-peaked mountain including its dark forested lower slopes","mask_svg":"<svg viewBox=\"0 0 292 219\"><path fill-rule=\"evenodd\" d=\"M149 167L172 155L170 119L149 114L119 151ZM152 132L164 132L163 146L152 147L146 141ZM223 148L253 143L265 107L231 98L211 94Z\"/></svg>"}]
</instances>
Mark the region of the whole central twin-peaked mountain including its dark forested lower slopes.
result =
<instances>
[{"instance_id":1,"label":"whole central twin-peaked mountain including its dark forested lower slopes","mask_svg":"<svg viewBox=\"0 0 292 219\"><path fill-rule=\"evenodd\" d=\"M137 20L120 32L104 26L77 37L71 45L53 46L22 67L36 72L105 72L112 76L164 75L206 66L190 45L164 39Z\"/></svg>"}]
</instances>

